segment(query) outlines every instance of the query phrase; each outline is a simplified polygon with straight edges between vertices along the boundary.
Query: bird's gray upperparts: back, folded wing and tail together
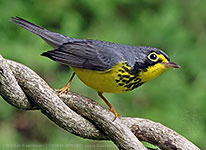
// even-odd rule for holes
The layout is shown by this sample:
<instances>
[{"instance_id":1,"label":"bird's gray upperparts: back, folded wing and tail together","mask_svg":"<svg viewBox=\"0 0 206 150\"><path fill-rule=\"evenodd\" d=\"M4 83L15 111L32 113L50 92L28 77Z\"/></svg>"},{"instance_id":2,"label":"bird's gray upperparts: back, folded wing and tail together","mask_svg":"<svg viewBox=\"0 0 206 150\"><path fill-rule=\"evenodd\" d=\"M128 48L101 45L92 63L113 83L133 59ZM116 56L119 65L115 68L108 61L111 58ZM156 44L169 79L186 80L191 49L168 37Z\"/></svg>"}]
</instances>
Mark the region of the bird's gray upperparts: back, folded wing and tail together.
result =
<instances>
[{"instance_id":1,"label":"bird's gray upperparts: back, folded wing and tail together","mask_svg":"<svg viewBox=\"0 0 206 150\"><path fill-rule=\"evenodd\" d=\"M40 36L56 48L43 53L43 56L69 66L104 71L125 60L127 60L128 65L133 66L135 60L138 60L135 57L140 56L137 53L140 51L138 47L105 41L71 38L51 32L19 17L12 17L12 21Z\"/></svg>"}]
</instances>

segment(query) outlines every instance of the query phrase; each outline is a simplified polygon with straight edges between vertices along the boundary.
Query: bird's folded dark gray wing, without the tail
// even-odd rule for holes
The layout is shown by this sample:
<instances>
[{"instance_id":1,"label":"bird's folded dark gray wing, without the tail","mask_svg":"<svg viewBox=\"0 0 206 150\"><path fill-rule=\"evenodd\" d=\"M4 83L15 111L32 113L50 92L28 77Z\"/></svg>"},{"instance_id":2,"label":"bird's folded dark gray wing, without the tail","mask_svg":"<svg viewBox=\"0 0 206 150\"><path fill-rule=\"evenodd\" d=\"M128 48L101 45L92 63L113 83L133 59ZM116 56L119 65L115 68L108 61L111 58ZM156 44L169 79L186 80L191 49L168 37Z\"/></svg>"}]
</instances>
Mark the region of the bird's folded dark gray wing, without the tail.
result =
<instances>
[{"instance_id":1,"label":"bird's folded dark gray wing, without the tail","mask_svg":"<svg viewBox=\"0 0 206 150\"><path fill-rule=\"evenodd\" d=\"M104 41L78 40L64 43L42 55L72 67L105 71L124 61L124 56L115 45Z\"/></svg>"}]
</instances>

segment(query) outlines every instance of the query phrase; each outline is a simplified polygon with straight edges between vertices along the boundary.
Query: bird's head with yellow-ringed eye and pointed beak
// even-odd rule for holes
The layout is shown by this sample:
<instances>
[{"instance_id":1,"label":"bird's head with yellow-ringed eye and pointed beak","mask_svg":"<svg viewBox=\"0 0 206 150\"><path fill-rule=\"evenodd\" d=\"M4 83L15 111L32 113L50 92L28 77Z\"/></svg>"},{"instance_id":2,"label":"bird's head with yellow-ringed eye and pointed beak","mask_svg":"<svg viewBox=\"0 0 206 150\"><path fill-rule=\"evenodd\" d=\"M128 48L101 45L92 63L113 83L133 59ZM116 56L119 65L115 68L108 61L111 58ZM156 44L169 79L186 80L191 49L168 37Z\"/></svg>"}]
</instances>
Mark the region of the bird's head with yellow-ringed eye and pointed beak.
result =
<instances>
[{"instance_id":1,"label":"bird's head with yellow-ringed eye and pointed beak","mask_svg":"<svg viewBox=\"0 0 206 150\"><path fill-rule=\"evenodd\" d=\"M150 81L168 68L180 68L179 65L170 61L168 55L160 49L140 47L141 55L133 66L133 71L138 72L141 82Z\"/></svg>"}]
</instances>

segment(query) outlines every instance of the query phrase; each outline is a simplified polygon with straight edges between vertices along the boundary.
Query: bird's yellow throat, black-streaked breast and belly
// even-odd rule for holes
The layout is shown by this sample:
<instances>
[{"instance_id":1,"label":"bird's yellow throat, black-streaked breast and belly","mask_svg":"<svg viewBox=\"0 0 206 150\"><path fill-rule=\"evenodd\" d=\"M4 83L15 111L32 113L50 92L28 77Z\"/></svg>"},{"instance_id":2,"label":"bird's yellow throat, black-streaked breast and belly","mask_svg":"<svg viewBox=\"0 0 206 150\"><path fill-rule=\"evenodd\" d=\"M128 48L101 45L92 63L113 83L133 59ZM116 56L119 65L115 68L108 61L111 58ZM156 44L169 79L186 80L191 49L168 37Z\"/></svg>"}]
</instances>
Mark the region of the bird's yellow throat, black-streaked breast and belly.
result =
<instances>
[{"instance_id":1,"label":"bird's yellow throat, black-streaked breast and belly","mask_svg":"<svg viewBox=\"0 0 206 150\"><path fill-rule=\"evenodd\" d=\"M107 93L122 93L133 90L167 70L163 64L158 63L150 66L146 71L131 74L131 67L129 67L126 62L114 65L106 71L95 71L76 67L72 67L72 69L87 86L98 92Z\"/></svg>"}]
</instances>

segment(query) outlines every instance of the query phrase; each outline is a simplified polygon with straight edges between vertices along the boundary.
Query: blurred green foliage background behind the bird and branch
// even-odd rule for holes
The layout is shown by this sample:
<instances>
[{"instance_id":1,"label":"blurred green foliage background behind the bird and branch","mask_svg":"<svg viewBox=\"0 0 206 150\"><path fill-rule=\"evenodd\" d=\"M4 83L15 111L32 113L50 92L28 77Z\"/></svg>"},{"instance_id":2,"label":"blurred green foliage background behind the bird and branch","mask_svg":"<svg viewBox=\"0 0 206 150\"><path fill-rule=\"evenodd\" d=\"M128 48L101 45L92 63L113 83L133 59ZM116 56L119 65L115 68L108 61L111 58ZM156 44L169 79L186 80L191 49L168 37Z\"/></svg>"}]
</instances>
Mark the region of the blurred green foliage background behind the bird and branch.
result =
<instances>
[{"instance_id":1,"label":"blurred green foliage background behind the bird and branch","mask_svg":"<svg viewBox=\"0 0 206 150\"><path fill-rule=\"evenodd\" d=\"M206 149L206 1L1 0L0 54L29 66L52 87L60 88L71 71L41 57L51 47L11 23L11 16L71 37L166 51L181 69L171 69L132 92L105 95L123 116L160 122ZM72 91L105 106L96 92L77 77ZM19 111L2 99L0 133L1 149L116 149L112 142L71 135L38 111Z\"/></svg>"}]
</instances>

